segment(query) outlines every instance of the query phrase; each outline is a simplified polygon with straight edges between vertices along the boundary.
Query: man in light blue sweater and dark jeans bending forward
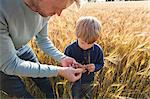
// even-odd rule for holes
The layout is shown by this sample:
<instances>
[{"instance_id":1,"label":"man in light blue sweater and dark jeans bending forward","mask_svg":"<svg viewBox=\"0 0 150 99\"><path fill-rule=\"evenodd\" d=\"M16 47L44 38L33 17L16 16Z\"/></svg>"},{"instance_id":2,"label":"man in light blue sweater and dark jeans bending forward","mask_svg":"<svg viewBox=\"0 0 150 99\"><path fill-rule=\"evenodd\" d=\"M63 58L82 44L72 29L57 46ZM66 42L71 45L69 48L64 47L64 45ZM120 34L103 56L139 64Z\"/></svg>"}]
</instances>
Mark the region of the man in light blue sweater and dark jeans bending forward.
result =
<instances>
[{"instance_id":1,"label":"man in light blue sweater and dark jeans bending forward","mask_svg":"<svg viewBox=\"0 0 150 99\"><path fill-rule=\"evenodd\" d=\"M48 38L48 16L60 15L74 0L0 0L0 75L1 90L12 97L33 98L25 89L19 76L31 77L53 98L48 78L60 75L69 81L81 77L82 69L67 67L80 65L54 47ZM78 1L76 1L78 2ZM64 67L40 64L32 49L27 45L36 37L39 47Z\"/></svg>"}]
</instances>

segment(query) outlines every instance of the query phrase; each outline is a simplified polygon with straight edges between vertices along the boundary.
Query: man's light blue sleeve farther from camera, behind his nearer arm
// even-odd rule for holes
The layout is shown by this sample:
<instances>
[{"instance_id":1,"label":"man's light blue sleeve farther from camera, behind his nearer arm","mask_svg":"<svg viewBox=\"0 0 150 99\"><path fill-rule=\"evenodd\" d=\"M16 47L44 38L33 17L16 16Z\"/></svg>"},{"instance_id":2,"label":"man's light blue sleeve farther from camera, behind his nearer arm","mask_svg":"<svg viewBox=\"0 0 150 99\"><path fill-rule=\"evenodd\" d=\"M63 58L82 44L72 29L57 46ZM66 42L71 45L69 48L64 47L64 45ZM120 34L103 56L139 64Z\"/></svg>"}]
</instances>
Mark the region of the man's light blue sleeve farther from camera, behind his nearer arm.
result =
<instances>
[{"instance_id":1,"label":"man's light blue sleeve farther from camera, behind his nearer arm","mask_svg":"<svg viewBox=\"0 0 150 99\"><path fill-rule=\"evenodd\" d=\"M60 60L65 57L65 55L62 52L60 52L49 39L47 32L47 24L41 30L41 32L36 35L36 41L38 46L46 54L52 56L55 60L60 62Z\"/></svg>"}]
</instances>

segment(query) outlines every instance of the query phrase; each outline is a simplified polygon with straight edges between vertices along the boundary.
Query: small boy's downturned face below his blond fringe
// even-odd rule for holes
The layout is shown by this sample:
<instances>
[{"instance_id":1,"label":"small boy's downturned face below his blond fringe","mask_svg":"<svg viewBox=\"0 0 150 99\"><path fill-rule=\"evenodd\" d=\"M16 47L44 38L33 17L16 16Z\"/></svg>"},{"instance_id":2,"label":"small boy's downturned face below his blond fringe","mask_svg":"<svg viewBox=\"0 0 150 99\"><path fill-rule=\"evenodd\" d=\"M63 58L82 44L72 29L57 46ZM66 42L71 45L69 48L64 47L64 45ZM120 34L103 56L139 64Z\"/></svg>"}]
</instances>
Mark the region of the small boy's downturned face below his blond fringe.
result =
<instances>
[{"instance_id":1,"label":"small boy's downturned face below his blond fringe","mask_svg":"<svg viewBox=\"0 0 150 99\"><path fill-rule=\"evenodd\" d=\"M81 38L78 38L78 44L79 44L80 48L82 48L83 50L87 50L87 49L93 47L93 45L94 45L94 43L92 43L92 44L86 43Z\"/></svg>"}]
</instances>

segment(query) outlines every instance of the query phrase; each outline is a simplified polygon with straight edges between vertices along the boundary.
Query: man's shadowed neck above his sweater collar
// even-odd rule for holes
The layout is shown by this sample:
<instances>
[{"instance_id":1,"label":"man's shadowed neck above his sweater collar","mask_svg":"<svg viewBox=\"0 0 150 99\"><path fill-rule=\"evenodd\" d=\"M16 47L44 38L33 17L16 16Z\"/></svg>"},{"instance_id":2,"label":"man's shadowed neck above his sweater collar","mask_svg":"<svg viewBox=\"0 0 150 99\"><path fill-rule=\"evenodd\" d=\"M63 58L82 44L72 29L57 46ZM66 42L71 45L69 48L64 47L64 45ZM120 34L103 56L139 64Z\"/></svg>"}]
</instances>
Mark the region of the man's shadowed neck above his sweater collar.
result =
<instances>
[{"instance_id":1,"label":"man's shadowed neck above his sweater collar","mask_svg":"<svg viewBox=\"0 0 150 99\"><path fill-rule=\"evenodd\" d=\"M37 1L37 0L36 0ZM24 0L24 3L34 12L37 12L36 2L34 0Z\"/></svg>"}]
</instances>

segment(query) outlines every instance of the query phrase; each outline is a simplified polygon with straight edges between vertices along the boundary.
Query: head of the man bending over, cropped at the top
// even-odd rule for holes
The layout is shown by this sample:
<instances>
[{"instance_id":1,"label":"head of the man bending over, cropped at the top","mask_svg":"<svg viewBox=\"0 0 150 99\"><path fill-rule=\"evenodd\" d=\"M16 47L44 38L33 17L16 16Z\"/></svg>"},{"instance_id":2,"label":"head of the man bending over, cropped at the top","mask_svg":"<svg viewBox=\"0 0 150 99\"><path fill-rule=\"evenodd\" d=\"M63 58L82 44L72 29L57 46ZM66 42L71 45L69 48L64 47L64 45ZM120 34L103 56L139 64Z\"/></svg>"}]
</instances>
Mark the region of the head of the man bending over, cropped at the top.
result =
<instances>
[{"instance_id":1,"label":"head of the man bending over, cropped at the top","mask_svg":"<svg viewBox=\"0 0 150 99\"><path fill-rule=\"evenodd\" d=\"M25 3L33 10L44 17L60 15L61 12L76 2L79 5L80 0L24 0Z\"/></svg>"}]
</instances>

